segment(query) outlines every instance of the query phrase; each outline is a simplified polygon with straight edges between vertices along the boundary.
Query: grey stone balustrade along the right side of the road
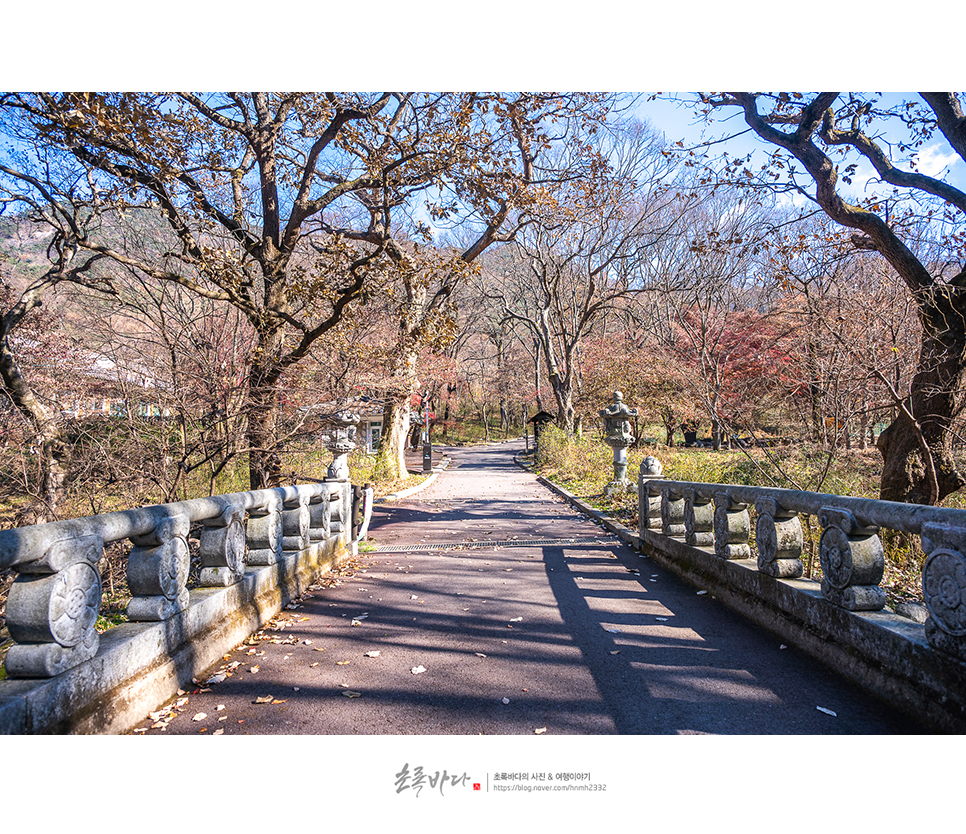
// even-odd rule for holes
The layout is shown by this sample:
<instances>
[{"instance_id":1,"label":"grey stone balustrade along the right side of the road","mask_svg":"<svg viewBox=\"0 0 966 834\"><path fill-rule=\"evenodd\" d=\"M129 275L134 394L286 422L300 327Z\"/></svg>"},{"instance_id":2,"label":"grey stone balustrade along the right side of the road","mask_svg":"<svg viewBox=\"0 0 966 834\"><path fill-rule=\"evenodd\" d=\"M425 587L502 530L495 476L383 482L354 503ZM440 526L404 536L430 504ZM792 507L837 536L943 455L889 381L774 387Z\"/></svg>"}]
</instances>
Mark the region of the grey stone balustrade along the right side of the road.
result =
<instances>
[{"instance_id":1,"label":"grey stone balustrade along the right side of the road","mask_svg":"<svg viewBox=\"0 0 966 834\"><path fill-rule=\"evenodd\" d=\"M645 554L937 726L966 728L966 511L674 481L655 458L638 499ZM803 519L821 530L820 583L802 578ZM883 530L921 538L918 621L886 607Z\"/></svg>"}]
</instances>

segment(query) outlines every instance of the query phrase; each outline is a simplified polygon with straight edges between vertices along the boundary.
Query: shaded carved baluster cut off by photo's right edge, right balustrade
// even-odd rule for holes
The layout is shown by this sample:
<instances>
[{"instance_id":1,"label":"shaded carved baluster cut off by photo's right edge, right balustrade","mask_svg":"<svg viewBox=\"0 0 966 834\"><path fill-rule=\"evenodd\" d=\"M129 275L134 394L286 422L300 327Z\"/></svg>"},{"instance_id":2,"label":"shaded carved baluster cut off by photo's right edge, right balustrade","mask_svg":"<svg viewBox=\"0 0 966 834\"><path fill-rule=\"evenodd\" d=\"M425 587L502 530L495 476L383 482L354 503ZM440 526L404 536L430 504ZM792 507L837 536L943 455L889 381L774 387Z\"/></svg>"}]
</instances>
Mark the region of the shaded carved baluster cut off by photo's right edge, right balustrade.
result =
<instances>
[{"instance_id":1,"label":"shaded carved baluster cut off by photo's right edge, right balustrade","mask_svg":"<svg viewBox=\"0 0 966 834\"><path fill-rule=\"evenodd\" d=\"M966 660L966 530L926 524L922 549L926 639L934 649Z\"/></svg>"}]
</instances>

